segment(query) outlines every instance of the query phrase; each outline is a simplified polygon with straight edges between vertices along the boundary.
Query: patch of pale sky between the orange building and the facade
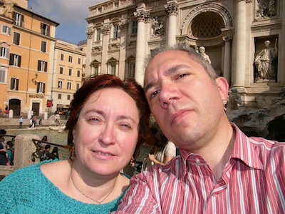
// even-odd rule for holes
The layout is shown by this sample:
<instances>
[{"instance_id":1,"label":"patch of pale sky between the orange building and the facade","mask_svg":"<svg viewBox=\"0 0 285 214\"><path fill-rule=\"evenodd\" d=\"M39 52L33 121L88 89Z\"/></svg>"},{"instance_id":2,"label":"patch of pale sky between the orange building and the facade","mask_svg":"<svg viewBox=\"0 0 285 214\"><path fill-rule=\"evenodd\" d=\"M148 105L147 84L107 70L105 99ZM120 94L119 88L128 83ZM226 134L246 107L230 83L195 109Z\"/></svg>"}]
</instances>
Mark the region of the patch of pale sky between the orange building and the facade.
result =
<instances>
[{"instance_id":1,"label":"patch of pale sky between the orange building and the facade","mask_svg":"<svg viewBox=\"0 0 285 214\"><path fill-rule=\"evenodd\" d=\"M106 0L28 0L28 9L59 25L56 38L78 44L87 39L87 21L89 6Z\"/></svg>"}]
</instances>

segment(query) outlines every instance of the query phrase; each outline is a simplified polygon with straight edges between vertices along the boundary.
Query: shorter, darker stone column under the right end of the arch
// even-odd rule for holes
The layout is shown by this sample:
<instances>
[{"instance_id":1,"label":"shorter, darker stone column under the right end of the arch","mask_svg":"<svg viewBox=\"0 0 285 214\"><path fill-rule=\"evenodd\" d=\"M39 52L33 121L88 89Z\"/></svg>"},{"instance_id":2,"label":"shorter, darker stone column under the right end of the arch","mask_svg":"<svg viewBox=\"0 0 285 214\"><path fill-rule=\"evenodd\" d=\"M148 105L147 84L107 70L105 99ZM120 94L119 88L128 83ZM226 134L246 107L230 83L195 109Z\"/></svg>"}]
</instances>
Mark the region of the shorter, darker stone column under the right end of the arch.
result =
<instances>
[{"instance_id":1,"label":"shorter, darker stone column under the right end of the arch","mask_svg":"<svg viewBox=\"0 0 285 214\"><path fill-rule=\"evenodd\" d=\"M224 78L231 85L231 36L223 36L224 40Z\"/></svg>"}]
</instances>

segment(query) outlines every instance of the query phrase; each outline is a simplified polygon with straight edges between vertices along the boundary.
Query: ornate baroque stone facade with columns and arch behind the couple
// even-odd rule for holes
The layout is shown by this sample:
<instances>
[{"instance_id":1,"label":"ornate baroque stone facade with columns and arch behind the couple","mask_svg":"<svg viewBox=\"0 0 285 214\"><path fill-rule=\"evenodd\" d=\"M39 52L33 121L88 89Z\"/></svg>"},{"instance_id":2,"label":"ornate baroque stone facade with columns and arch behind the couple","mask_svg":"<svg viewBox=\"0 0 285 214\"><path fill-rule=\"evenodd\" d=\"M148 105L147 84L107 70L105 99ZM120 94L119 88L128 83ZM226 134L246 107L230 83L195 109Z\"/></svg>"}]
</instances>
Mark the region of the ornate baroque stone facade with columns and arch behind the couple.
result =
<instances>
[{"instance_id":1,"label":"ornate baroque stone facade with columns and arch behind the couple","mask_svg":"<svg viewBox=\"0 0 285 214\"><path fill-rule=\"evenodd\" d=\"M271 116L272 103L284 107L284 0L110 0L89 11L86 75L113 73L142 83L145 56L183 42L204 47L215 71L237 89L242 101L229 112L233 121L259 126L267 116L257 131L266 136L265 126L284 116L285 109Z\"/></svg>"}]
</instances>

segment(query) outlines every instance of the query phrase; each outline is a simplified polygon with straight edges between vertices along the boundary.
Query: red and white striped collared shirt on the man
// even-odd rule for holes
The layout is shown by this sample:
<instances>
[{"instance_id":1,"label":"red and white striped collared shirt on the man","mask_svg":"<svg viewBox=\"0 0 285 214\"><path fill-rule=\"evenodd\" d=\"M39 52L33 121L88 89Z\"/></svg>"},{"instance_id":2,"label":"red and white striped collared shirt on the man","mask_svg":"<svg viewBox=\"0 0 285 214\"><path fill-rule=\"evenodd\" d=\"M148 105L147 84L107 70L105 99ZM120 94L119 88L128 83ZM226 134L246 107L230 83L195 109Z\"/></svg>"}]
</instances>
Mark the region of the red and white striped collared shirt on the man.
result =
<instances>
[{"instance_id":1,"label":"red and white striped collared shirt on the man","mask_svg":"<svg viewBox=\"0 0 285 214\"><path fill-rule=\"evenodd\" d=\"M115 213L285 213L285 143L236 139L222 178L201 156L180 150L165 166L133 176Z\"/></svg>"}]
</instances>

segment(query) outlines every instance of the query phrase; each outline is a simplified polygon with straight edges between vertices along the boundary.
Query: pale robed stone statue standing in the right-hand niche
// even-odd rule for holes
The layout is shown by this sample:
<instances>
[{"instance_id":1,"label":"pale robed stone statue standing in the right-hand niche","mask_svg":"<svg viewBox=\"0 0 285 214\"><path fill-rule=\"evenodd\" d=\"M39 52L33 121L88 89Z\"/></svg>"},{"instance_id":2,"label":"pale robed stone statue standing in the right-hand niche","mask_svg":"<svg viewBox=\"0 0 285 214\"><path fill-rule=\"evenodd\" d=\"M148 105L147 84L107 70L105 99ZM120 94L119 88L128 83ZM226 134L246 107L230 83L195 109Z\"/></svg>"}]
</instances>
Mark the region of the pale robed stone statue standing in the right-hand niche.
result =
<instances>
[{"instance_id":1,"label":"pale robed stone statue standing in the right-hand niche","mask_svg":"<svg viewBox=\"0 0 285 214\"><path fill-rule=\"evenodd\" d=\"M259 81L259 79L276 80L275 70L274 70L274 60L277 56L277 39L274 48L270 46L270 41L264 41L265 49L263 49L255 57L254 63L257 66L257 78L254 82Z\"/></svg>"}]
</instances>

